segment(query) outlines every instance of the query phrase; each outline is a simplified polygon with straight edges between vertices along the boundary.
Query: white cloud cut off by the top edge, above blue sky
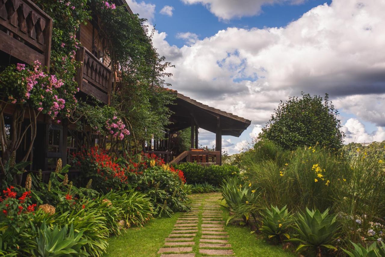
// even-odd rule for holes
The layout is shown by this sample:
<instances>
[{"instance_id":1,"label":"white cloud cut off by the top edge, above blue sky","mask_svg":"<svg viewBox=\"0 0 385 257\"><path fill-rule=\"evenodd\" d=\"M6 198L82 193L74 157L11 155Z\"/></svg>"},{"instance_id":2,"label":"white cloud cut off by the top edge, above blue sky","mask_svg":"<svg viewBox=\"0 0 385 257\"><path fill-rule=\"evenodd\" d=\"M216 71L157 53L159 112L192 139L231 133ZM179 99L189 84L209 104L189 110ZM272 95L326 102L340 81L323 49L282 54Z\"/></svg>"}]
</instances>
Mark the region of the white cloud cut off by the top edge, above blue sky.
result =
<instances>
[{"instance_id":1,"label":"white cloud cut off by the top edge, above blue sky","mask_svg":"<svg viewBox=\"0 0 385 257\"><path fill-rule=\"evenodd\" d=\"M261 13L263 5L274 3L298 4L304 0L182 0L186 4L200 3L218 18L228 20Z\"/></svg>"}]
</instances>

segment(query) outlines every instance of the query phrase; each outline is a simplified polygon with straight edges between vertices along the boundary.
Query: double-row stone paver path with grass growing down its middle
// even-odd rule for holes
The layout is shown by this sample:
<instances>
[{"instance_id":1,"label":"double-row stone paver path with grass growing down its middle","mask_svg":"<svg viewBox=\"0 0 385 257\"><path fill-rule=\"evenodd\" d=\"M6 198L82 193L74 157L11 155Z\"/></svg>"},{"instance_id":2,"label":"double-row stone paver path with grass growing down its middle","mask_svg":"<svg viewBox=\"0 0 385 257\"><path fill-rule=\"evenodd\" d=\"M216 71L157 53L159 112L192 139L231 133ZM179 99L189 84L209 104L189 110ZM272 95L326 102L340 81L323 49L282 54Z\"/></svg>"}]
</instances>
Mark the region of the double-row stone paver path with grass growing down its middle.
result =
<instances>
[{"instance_id":1,"label":"double-row stone paver path with grass growing down its middle","mask_svg":"<svg viewBox=\"0 0 385 257\"><path fill-rule=\"evenodd\" d=\"M191 211L179 216L174 229L159 249L161 257L235 256L224 231L219 193L194 195Z\"/></svg>"}]
</instances>

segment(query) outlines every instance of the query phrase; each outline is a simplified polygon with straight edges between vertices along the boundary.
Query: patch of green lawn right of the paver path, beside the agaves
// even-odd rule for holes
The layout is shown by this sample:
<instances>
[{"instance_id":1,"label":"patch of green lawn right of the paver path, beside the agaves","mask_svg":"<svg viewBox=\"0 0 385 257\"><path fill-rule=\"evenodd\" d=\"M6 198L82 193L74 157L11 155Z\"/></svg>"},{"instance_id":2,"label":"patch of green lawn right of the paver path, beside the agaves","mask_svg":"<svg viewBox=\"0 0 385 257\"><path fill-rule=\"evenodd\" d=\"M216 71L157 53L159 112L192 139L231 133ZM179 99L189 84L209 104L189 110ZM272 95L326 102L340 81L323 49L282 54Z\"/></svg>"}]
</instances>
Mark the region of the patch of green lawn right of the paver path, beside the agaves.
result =
<instances>
[{"instance_id":1,"label":"patch of green lawn right of the paver path, beside the agaves","mask_svg":"<svg viewBox=\"0 0 385 257\"><path fill-rule=\"evenodd\" d=\"M219 203L219 202L218 202ZM225 202L223 202L225 203ZM226 221L229 217L229 212L224 207L223 218ZM288 250L281 249L281 245L270 245L259 235L250 233L249 226L238 226L229 224L225 227L225 230L229 234L229 242L233 248L233 251L237 257L250 257L250 256L266 256L266 257L287 257L297 256L292 254Z\"/></svg>"}]
</instances>

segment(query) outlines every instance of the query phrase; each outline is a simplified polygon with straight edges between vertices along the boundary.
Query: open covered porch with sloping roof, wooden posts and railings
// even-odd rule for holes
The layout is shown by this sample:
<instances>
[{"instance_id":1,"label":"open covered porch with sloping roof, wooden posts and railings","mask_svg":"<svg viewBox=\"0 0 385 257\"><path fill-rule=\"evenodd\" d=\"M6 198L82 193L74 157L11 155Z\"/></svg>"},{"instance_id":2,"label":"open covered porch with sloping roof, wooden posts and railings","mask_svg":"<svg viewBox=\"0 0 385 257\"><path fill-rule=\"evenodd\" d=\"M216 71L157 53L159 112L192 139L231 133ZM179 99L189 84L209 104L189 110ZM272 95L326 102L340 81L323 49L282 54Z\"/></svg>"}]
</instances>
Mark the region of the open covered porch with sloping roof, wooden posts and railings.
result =
<instances>
[{"instance_id":1,"label":"open covered porch with sloping roof, wooden posts and railings","mask_svg":"<svg viewBox=\"0 0 385 257\"><path fill-rule=\"evenodd\" d=\"M251 121L231 113L202 104L184 96L177 91L172 111L171 124L165 129L164 139L154 139L151 144L143 144L144 153L153 153L167 163L197 162L201 165L222 164L222 136L239 137L251 124ZM190 149L183 152L172 151L173 139L178 131L190 128ZM202 128L215 133L215 149L199 148L198 129Z\"/></svg>"}]
</instances>

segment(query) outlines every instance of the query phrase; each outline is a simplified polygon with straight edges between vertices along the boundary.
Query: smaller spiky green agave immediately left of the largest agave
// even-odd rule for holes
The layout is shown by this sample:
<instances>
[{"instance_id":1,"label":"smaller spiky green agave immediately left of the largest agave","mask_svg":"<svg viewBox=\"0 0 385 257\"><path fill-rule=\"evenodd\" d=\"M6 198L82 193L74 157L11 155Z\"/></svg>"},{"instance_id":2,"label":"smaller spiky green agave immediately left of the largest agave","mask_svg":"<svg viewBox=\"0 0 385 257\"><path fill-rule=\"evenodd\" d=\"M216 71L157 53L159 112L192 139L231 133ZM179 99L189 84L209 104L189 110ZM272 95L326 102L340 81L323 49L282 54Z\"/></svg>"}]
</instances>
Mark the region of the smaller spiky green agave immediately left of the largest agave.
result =
<instances>
[{"instance_id":1,"label":"smaller spiky green agave immediately left of the largest agave","mask_svg":"<svg viewBox=\"0 0 385 257\"><path fill-rule=\"evenodd\" d=\"M290 239L287 232L291 223L291 215L288 213L286 205L281 209L271 205L271 209L265 208L262 212L259 212L262 216L262 227L259 230L268 236L269 239L277 238L282 240L282 237Z\"/></svg>"}]
</instances>

